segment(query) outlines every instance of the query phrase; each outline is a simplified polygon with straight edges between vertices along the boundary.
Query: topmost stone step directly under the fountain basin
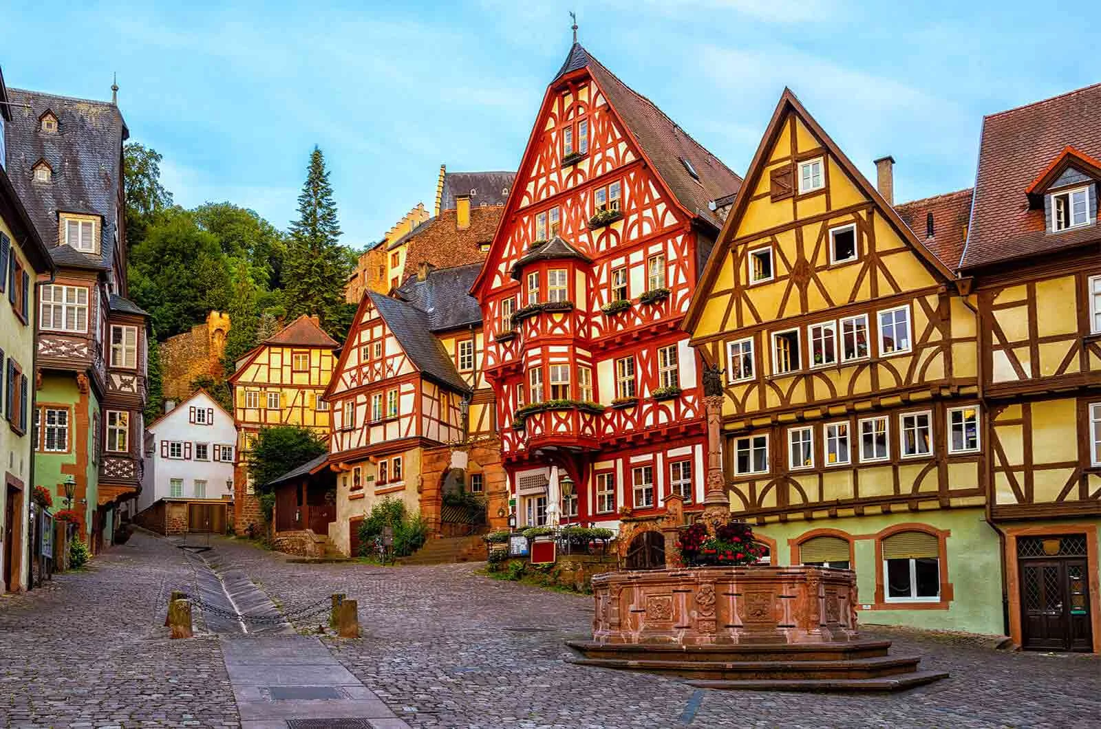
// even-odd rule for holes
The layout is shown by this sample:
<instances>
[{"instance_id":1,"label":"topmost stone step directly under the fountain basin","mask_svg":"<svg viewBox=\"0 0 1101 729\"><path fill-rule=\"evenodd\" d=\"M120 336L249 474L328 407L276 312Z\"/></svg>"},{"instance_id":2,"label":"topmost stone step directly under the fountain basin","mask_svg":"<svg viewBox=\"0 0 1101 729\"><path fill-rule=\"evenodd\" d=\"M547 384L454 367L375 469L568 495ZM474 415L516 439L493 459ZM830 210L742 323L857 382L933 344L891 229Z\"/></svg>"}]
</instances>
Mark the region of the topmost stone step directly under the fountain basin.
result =
<instances>
[{"instance_id":1,"label":"topmost stone step directly under the fountain basin","mask_svg":"<svg viewBox=\"0 0 1101 729\"><path fill-rule=\"evenodd\" d=\"M587 659L622 661L853 661L885 656L891 641L858 640L849 643L775 643L676 645L662 643L597 643L568 641Z\"/></svg>"}]
</instances>

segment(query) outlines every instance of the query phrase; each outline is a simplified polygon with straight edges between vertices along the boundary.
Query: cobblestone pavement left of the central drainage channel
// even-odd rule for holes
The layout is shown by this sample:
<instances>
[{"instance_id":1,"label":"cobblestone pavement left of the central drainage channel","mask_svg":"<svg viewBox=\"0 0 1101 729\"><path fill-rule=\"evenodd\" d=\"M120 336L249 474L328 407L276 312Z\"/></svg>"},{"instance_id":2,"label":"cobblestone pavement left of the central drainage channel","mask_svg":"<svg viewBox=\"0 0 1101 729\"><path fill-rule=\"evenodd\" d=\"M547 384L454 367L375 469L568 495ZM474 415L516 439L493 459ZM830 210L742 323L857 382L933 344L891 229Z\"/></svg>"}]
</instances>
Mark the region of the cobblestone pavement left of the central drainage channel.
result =
<instances>
[{"instance_id":1,"label":"cobblestone pavement left of the central drainage channel","mask_svg":"<svg viewBox=\"0 0 1101 729\"><path fill-rule=\"evenodd\" d=\"M163 627L181 551L135 534L90 565L0 597L0 727L237 727L218 639Z\"/></svg>"}]
</instances>

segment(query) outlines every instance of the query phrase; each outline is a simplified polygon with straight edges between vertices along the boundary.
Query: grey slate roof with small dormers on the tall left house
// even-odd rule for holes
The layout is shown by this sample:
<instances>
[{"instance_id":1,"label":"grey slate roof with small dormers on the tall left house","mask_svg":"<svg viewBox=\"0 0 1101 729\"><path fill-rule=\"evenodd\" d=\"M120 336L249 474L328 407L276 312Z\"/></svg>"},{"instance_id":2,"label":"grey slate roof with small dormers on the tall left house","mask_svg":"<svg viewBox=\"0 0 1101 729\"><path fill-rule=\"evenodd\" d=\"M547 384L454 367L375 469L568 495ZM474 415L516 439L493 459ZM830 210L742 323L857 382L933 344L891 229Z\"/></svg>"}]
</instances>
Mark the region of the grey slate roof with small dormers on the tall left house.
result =
<instances>
[{"instance_id":1,"label":"grey slate roof with small dormers on the tall left house","mask_svg":"<svg viewBox=\"0 0 1101 729\"><path fill-rule=\"evenodd\" d=\"M7 170L12 185L58 265L109 269L115 254L116 202L122 174L122 142L129 137L118 107L107 101L75 99L9 88L12 120L4 124ZM22 105L30 105L25 108ZM57 132L41 131L40 117L57 117ZM33 181L34 165L45 160L52 181ZM57 214L87 213L102 217L100 254L57 246Z\"/></svg>"}]
</instances>

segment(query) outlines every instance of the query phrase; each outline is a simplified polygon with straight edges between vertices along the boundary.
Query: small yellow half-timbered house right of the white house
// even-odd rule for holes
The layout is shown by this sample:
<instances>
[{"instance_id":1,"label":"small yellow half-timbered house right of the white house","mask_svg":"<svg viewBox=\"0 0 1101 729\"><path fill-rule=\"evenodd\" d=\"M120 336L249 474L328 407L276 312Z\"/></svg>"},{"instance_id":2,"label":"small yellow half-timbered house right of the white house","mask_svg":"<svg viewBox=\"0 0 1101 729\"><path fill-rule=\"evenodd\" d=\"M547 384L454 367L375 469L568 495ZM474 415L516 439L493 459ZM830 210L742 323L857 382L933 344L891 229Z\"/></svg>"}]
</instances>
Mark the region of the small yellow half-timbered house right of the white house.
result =
<instances>
[{"instance_id":1,"label":"small yellow half-timbered house right of the white house","mask_svg":"<svg viewBox=\"0 0 1101 729\"><path fill-rule=\"evenodd\" d=\"M328 435L329 407L324 395L338 347L316 316L304 314L246 352L227 380L237 426L233 527L238 533L260 519L246 463L260 428L301 425Z\"/></svg>"}]
</instances>

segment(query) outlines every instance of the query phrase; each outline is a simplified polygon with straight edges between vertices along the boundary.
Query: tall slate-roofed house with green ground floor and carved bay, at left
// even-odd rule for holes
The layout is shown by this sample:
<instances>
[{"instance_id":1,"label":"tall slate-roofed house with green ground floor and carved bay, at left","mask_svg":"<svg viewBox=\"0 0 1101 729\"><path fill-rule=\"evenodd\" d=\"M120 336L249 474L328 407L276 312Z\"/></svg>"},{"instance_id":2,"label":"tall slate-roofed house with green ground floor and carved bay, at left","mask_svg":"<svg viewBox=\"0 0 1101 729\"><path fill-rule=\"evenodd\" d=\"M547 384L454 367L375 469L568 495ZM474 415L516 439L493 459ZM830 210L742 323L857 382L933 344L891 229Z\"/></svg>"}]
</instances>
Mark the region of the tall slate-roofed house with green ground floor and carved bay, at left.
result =
<instances>
[{"instance_id":1,"label":"tall slate-roofed house with green ground floor and carved bay, at left","mask_svg":"<svg viewBox=\"0 0 1101 729\"><path fill-rule=\"evenodd\" d=\"M98 550L142 477L149 316L127 300L129 131L113 101L10 97L8 175L57 266L35 296L35 483L64 503L75 481L80 534Z\"/></svg>"}]
</instances>

